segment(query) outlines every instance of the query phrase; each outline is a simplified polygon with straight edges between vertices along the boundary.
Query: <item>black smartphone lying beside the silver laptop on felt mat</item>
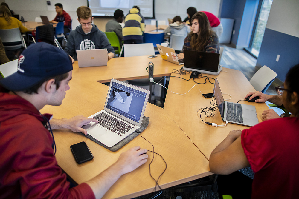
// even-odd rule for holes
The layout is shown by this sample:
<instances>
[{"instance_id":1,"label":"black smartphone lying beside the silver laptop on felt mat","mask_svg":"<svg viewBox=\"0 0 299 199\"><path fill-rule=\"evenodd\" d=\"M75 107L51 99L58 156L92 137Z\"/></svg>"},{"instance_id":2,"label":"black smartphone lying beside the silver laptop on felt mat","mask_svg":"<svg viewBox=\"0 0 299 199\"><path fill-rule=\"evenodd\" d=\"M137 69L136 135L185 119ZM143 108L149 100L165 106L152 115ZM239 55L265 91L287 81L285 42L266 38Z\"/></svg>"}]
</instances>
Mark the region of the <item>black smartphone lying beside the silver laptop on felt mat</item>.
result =
<instances>
[{"instance_id":1,"label":"black smartphone lying beside the silver laptop on felt mat","mask_svg":"<svg viewBox=\"0 0 299 199\"><path fill-rule=\"evenodd\" d=\"M85 142L79 142L71 145L71 151L78 164L82 164L93 159L93 155Z\"/></svg>"}]
</instances>

